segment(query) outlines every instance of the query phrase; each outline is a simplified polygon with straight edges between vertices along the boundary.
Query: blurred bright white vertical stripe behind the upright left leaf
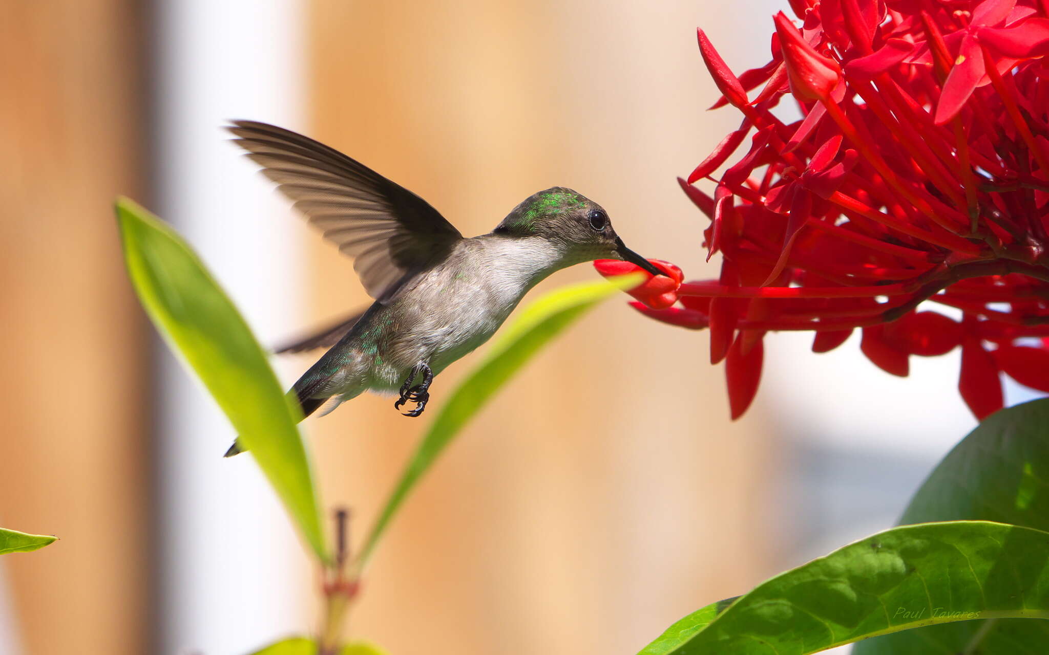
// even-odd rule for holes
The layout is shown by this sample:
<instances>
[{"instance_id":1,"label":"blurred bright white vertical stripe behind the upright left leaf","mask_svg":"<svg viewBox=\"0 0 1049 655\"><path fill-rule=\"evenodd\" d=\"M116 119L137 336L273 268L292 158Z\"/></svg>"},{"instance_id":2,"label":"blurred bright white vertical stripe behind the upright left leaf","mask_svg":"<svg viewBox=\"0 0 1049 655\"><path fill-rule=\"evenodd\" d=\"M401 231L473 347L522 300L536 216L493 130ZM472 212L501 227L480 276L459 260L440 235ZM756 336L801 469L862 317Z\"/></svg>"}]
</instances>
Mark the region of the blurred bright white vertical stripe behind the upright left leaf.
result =
<instances>
[{"instance_id":1,"label":"blurred bright white vertical stripe behind the upright left leaf","mask_svg":"<svg viewBox=\"0 0 1049 655\"><path fill-rule=\"evenodd\" d=\"M227 143L230 118L301 129L295 0L169 0L156 9L156 211L193 244L263 342L294 331L301 225ZM167 352L157 392L160 652L237 655L303 629L311 571L255 462Z\"/></svg>"}]
</instances>

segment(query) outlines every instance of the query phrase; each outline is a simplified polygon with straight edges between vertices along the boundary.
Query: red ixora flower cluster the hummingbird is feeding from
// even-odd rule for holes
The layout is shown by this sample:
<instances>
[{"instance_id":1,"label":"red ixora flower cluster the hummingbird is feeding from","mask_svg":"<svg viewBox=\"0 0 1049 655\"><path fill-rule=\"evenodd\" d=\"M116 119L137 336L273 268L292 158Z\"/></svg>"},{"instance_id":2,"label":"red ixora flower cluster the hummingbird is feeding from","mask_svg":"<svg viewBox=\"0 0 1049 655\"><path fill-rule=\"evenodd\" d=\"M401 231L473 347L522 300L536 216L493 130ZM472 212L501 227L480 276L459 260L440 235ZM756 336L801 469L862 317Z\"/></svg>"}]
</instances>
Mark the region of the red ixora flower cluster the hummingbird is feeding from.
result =
<instances>
[{"instance_id":1,"label":"red ixora flower cluster the hummingbird is feeding from","mask_svg":"<svg viewBox=\"0 0 1049 655\"><path fill-rule=\"evenodd\" d=\"M859 328L866 357L896 375L911 355L961 347L959 389L980 418L1002 407L1001 372L1049 392L1049 0L791 6L800 28L778 14L772 61L740 75L699 31L714 107L743 114L679 180L711 221L721 275L656 289L656 302L640 288L631 304L709 327L733 418L776 330L812 330L827 352ZM772 113L784 100L800 119ZM928 303L961 321L918 310Z\"/></svg>"}]
</instances>

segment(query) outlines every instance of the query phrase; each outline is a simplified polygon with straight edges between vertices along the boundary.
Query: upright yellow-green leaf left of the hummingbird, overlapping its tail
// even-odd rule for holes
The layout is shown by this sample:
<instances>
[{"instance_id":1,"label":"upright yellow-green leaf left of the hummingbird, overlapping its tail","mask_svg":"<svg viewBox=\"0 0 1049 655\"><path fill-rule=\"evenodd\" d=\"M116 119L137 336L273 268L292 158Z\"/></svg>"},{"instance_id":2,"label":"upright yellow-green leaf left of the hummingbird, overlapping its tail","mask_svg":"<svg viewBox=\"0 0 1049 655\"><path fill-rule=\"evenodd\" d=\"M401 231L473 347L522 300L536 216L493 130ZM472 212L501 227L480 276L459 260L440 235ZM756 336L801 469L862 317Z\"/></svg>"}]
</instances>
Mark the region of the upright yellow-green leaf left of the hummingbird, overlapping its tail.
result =
<instances>
[{"instance_id":1,"label":"upright yellow-green leaf left of the hummingbird, overlapping its tail","mask_svg":"<svg viewBox=\"0 0 1049 655\"><path fill-rule=\"evenodd\" d=\"M116 218L128 276L149 318L226 412L306 542L328 561L297 410L248 324L171 227L126 198L116 202Z\"/></svg>"}]
</instances>

